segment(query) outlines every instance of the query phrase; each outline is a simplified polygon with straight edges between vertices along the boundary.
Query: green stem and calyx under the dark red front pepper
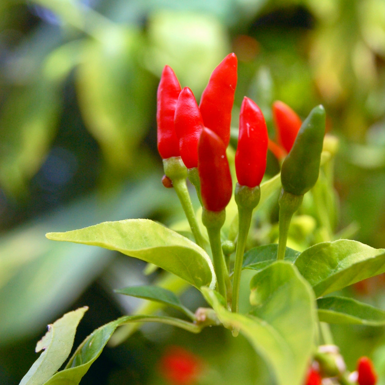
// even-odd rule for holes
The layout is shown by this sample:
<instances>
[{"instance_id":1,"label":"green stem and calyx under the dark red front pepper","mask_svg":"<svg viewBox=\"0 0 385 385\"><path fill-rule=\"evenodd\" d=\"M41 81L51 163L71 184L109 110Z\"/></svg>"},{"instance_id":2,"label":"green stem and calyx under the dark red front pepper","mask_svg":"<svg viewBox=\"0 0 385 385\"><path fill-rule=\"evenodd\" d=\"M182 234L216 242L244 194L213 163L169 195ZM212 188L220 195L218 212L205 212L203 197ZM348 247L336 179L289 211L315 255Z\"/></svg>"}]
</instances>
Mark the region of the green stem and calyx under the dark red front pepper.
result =
<instances>
[{"instance_id":1,"label":"green stem and calyx under the dark red front pepper","mask_svg":"<svg viewBox=\"0 0 385 385\"><path fill-rule=\"evenodd\" d=\"M221 228L226 218L226 211L209 211L203 208L202 222L209 234L211 251L213 253L214 270L217 277L218 291L227 303L226 278L229 280L229 272L226 268L221 245Z\"/></svg>"}]
</instances>

